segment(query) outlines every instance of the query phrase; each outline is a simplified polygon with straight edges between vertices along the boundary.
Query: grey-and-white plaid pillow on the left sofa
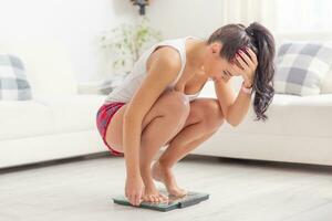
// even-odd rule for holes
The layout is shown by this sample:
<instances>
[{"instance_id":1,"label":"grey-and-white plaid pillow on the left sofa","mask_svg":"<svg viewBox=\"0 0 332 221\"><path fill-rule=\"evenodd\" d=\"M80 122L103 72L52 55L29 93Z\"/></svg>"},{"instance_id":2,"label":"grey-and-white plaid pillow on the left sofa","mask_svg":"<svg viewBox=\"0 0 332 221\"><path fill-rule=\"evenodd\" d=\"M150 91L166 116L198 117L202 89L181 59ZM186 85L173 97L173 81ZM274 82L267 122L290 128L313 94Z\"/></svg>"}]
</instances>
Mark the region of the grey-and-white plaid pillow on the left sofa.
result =
<instances>
[{"instance_id":1,"label":"grey-and-white plaid pillow on the left sofa","mask_svg":"<svg viewBox=\"0 0 332 221\"><path fill-rule=\"evenodd\" d=\"M31 98L31 87L22 61L12 54L0 54L0 101Z\"/></svg>"}]
</instances>

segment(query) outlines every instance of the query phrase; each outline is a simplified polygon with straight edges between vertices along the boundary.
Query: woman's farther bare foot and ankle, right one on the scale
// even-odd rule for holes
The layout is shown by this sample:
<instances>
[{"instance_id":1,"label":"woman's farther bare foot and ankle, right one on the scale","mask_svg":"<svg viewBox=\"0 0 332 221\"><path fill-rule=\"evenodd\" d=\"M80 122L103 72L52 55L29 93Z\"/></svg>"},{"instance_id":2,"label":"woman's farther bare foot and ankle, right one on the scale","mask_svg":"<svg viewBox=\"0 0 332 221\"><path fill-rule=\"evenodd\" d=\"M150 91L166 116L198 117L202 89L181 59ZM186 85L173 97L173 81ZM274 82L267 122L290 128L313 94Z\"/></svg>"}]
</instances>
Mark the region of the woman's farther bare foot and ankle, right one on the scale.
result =
<instances>
[{"instance_id":1,"label":"woman's farther bare foot and ankle, right one on the scale","mask_svg":"<svg viewBox=\"0 0 332 221\"><path fill-rule=\"evenodd\" d=\"M187 190L177 186L175 177L170 169L163 167L159 161L156 161L152 167L152 175L156 181L163 182L169 194L175 197L184 197L188 193Z\"/></svg>"}]
</instances>

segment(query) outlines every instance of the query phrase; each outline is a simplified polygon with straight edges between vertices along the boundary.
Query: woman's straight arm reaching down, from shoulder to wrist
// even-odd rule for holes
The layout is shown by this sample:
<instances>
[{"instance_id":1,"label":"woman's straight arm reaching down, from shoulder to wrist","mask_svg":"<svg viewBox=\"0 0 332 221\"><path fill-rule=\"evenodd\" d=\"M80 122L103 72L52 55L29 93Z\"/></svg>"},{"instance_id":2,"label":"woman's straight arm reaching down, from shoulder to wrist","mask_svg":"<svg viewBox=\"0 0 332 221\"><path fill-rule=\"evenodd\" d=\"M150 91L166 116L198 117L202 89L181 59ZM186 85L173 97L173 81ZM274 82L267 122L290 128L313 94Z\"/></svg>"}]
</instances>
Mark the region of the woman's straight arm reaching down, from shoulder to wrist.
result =
<instances>
[{"instance_id":1,"label":"woman's straight arm reaching down, from shoulder to wrist","mask_svg":"<svg viewBox=\"0 0 332 221\"><path fill-rule=\"evenodd\" d=\"M138 149L143 118L180 70L180 57L175 49L160 48L151 59L146 77L124 113L123 147L127 176L141 176Z\"/></svg>"}]
</instances>

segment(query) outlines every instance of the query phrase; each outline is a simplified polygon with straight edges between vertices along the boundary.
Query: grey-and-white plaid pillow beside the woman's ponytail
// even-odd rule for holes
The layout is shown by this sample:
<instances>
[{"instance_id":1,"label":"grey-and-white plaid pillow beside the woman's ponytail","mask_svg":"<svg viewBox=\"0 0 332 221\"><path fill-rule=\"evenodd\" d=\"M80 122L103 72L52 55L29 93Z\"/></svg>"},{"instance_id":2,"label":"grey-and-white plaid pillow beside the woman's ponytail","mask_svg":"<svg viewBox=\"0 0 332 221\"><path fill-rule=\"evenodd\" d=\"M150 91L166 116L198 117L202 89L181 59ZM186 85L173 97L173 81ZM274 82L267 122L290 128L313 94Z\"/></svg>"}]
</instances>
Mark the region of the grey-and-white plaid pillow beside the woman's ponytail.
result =
<instances>
[{"instance_id":1,"label":"grey-and-white plaid pillow beside the woman's ponytail","mask_svg":"<svg viewBox=\"0 0 332 221\"><path fill-rule=\"evenodd\" d=\"M279 94L318 95L332 66L332 43L287 42L276 61L274 91Z\"/></svg>"}]
</instances>

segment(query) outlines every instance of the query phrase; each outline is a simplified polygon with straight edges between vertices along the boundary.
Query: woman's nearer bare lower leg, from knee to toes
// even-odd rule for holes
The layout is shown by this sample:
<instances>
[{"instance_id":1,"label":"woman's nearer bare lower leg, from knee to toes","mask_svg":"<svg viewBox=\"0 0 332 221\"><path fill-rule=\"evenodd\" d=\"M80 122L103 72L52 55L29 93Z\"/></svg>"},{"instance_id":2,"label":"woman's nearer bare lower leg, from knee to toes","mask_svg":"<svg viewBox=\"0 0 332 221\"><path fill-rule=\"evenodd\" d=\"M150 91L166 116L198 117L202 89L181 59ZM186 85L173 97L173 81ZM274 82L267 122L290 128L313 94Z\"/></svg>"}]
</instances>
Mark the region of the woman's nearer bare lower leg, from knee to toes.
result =
<instances>
[{"instance_id":1,"label":"woman's nearer bare lower leg, from knee to toes","mask_svg":"<svg viewBox=\"0 0 332 221\"><path fill-rule=\"evenodd\" d=\"M179 98L178 101L175 101ZM145 185L145 201L159 202L167 198L158 192L152 177L152 162L157 151L174 137L184 126L189 114L189 104L184 103L184 97L170 95L162 97L156 105L167 104L160 115L153 118L143 129L139 149L139 169ZM173 103L173 104L172 104ZM170 110L169 110L170 109ZM164 112L164 113L163 113Z\"/></svg>"}]
</instances>

